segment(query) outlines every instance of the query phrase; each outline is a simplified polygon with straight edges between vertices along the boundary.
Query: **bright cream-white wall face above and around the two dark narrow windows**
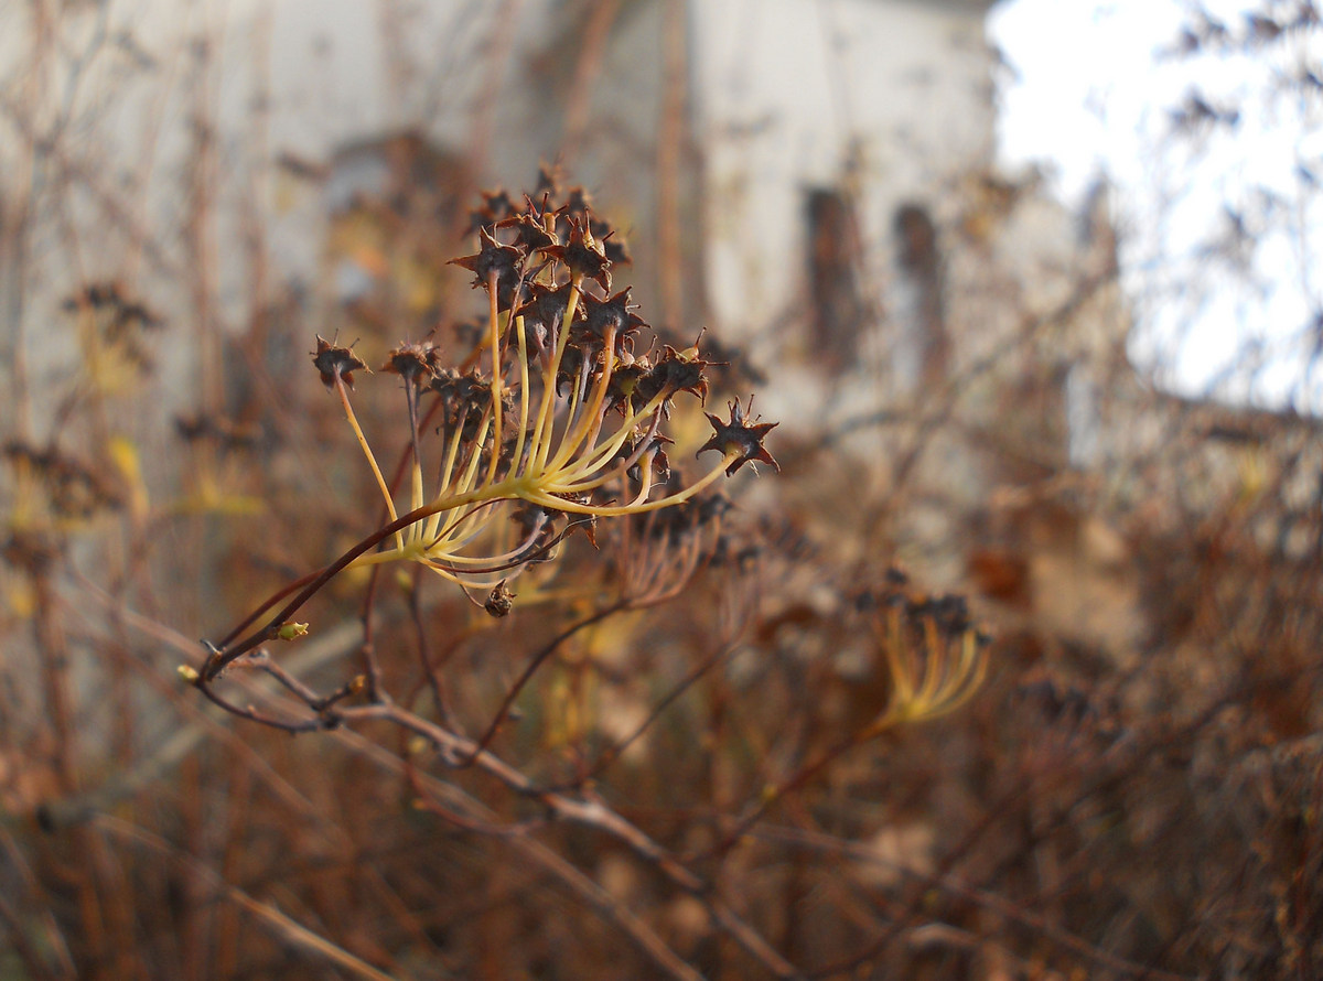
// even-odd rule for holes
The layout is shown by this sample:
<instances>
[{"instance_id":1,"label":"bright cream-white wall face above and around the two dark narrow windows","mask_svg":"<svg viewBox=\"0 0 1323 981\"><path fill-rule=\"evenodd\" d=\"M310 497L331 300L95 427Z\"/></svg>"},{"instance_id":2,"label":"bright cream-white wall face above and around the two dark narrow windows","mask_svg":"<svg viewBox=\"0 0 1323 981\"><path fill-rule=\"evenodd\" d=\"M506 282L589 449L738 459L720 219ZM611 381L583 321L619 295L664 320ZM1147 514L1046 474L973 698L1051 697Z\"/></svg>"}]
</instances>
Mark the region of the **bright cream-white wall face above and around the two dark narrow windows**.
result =
<instances>
[{"instance_id":1,"label":"bright cream-white wall face above and around the two dark narrow windows","mask_svg":"<svg viewBox=\"0 0 1323 981\"><path fill-rule=\"evenodd\" d=\"M890 222L938 214L994 151L991 54L979 4L742 0L692 5L706 165L712 308L746 334L803 287L803 190L853 160L877 279Z\"/></svg>"}]
</instances>

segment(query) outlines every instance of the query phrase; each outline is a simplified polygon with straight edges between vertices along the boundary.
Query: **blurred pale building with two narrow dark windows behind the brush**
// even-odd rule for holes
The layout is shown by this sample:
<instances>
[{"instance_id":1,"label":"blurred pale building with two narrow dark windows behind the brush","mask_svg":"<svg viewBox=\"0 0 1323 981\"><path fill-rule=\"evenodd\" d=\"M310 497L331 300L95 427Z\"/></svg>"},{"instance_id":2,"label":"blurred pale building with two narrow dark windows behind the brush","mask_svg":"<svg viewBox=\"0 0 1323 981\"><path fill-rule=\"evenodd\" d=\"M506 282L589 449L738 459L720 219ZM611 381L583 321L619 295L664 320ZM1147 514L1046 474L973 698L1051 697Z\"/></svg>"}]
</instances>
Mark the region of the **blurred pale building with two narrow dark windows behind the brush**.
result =
<instances>
[{"instance_id":1,"label":"blurred pale building with two narrow dark windows behind the brush","mask_svg":"<svg viewBox=\"0 0 1323 981\"><path fill-rule=\"evenodd\" d=\"M369 361L452 325L470 291L446 260L478 190L519 193L546 163L624 230L651 323L712 327L766 375L755 411L782 420L792 468L836 472L815 513L860 554L1050 596L1094 639L1132 625L1129 546L1082 501L1123 498L1181 414L1155 414L1126 361L1106 189L1070 214L1035 173L996 168L988 7L11 11L16 418L53 435L42 393L69 349L44 325L86 283L116 283L168 325L152 342L165 411L135 426L261 423L242 373L208 368L233 362L221 338L294 366L310 338L292 324L359 337ZM1064 535L1106 588L1062 590L1056 566L1033 586L1036 535Z\"/></svg>"}]
</instances>

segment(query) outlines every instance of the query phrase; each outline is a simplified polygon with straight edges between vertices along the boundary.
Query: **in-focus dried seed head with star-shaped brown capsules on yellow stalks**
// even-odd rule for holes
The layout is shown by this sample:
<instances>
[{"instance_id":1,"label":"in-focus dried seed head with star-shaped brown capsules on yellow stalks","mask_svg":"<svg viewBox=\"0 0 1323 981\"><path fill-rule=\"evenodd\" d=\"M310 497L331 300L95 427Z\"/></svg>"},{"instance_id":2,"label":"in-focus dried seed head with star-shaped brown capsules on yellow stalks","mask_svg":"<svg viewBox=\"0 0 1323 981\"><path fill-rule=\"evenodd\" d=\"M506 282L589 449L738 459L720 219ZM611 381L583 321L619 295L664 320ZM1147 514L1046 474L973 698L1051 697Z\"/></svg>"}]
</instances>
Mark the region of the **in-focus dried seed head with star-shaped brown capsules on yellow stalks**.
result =
<instances>
[{"instance_id":1,"label":"in-focus dried seed head with star-shaped brown capsules on yellow stalks","mask_svg":"<svg viewBox=\"0 0 1323 981\"><path fill-rule=\"evenodd\" d=\"M201 670L185 674L213 701L228 705L212 689L226 666L265 643L303 636L307 624L291 617L341 572L415 562L486 595L488 612L504 616L509 583L545 569L570 531L593 538L598 518L679 508L746 463L777 465L763 447L775 423L749 422L732 402L728 422L708 416L714 432L699 450L717 451L717 464L692 483L672 472L663 426L677 397L706 397L709 362L697 346L636 350L648 325L628 290L610 294L624 254L609 249L614 231L582 189L553 202L548 186L523 206L488 194L475 221L479 251L454 262L487 295L483 344L447 368L431 341L406 342L381 369L404 383L407 504L397 505L355 415L349 393L366 364L316 338L314 366L344 407L389 521L262 603L220 645L208 644ZM329 709L324 699L318 706Z\"/></svg>"}]
</instances>

